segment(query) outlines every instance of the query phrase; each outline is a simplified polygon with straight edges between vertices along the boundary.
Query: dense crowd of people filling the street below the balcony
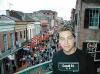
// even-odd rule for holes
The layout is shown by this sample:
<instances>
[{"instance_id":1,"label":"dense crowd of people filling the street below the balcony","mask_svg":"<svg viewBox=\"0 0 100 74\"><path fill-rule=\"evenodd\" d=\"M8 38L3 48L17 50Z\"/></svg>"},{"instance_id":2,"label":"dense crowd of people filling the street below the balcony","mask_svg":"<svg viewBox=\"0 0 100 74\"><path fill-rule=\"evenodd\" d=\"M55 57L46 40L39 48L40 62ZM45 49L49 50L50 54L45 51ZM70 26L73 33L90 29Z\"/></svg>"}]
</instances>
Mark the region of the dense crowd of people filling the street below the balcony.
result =
<instances>
[{"instance_id":1,"label":"dense crowd of people filling the street below the balcony","mask_svg":"<svg viewBox=\"0 0 100 74\"><path fill-rule=\"evenodd\" d=\"M22 70L30 66L50 61L53 58L53 54L58 51L58 49L61 49L58 43L58 33L49 34L48 38L34 44L34 48L30 50L22 49L19 51L18 55L16 55L19 57L16 58L17 65ZM51 68L51 65L49 66L49 68Z\"/></svg>"}]
</instances>

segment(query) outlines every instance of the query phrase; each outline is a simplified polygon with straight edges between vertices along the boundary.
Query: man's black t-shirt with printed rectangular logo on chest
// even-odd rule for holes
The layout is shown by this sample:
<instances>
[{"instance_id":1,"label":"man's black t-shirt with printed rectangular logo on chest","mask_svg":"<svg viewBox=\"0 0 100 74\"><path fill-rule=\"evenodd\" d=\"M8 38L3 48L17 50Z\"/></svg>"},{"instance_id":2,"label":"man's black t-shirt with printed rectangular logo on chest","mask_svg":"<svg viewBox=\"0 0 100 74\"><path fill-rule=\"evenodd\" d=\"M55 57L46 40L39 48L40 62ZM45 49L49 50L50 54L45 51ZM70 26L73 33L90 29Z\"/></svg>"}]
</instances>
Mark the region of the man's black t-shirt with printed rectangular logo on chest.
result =
<instances>
[{"instance_id":1,"label":"man's black t-shirt with printed rectangular logo on chest","mask_svg":"<svg viewBox=\"0 0 100 74\"><path fill-rule=\"evenodd\" d=\"M53 74L96 74L92 58L79 49L71 55L60 50L54 54L52 62Z\"/></svg>"}]
</instances>

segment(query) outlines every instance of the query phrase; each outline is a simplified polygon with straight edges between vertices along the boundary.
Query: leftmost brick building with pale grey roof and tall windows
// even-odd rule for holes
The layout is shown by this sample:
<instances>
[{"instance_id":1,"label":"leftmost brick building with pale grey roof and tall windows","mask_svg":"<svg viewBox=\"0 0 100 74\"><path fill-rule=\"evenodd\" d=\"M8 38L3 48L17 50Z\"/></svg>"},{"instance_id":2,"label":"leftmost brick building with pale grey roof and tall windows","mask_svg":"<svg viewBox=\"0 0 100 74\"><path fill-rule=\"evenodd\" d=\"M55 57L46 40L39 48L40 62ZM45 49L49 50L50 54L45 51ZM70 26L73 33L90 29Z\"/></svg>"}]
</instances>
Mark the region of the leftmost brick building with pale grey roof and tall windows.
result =
<instances>
[{"instance_id":1,"label":"leftmost brick building with pale grey roof and tall windows","mask_svg":"<svg viewBox=\"0 0 100 74\"><path fill-rule=\"evenodd\" d=\"M0 15L0 72L7 73L5 59L15 50L15 21L5 15ZM2 60L3 59L3 60ZM9 59L9 58L8 58Z\"/></svg>"}]
</instances>

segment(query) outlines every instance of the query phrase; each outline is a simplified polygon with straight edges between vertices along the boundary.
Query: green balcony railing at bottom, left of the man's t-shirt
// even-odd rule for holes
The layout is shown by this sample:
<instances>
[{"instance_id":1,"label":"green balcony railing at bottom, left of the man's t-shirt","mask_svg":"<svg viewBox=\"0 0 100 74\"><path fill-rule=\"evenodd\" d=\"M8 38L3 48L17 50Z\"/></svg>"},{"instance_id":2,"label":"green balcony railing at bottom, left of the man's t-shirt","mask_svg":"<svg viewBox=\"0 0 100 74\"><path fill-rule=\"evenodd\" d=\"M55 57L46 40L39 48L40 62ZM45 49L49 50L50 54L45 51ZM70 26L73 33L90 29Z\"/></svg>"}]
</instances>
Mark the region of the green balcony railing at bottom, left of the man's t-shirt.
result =
<instances>
[{"instance_id":1,"label":"green balcony railing at bottom, left of the man's t-shirt","mask_svg":"<svg viewBox=\"0 0 100 74\"><path fill-rule=\"evenodd\" d=\"M28 67L14 74L52 74L52 71L48 69L50 65L52 65L52 61L47 61L35 66Z\"/></svg>"}]
</instances>

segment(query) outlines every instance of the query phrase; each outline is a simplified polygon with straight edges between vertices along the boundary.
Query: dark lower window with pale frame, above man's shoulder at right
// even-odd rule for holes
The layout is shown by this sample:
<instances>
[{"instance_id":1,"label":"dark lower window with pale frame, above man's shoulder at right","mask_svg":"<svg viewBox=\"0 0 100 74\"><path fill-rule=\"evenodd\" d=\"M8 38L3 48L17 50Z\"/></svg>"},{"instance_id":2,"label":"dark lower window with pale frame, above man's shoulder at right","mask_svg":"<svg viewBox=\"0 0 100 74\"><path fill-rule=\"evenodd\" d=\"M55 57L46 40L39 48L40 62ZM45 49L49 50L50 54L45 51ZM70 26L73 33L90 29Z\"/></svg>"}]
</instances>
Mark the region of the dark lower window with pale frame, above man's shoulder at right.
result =
<instances>
[{"instance_id":1,"label":"dark lower window with pale frame, above man's shoulder at right","mask_svg":"<svg viewBox=\"0 0 100 74\"><path fill-rule=\"evenodd\" d=\"M100 43L83 42L83 50L90 54L94 61L100 61Z\"/></svg>"}]
</instances>

